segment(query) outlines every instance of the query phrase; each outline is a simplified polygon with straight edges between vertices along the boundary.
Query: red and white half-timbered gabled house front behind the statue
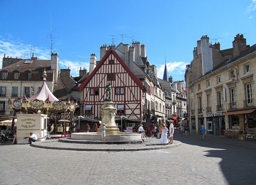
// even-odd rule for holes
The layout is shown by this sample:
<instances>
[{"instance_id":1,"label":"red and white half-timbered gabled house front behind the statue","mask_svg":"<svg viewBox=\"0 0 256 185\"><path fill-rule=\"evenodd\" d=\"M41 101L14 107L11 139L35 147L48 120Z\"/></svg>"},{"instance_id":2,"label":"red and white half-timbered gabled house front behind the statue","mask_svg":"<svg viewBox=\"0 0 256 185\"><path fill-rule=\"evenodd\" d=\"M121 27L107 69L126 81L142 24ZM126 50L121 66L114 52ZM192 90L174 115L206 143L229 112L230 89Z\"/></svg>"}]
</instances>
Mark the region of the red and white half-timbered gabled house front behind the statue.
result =
<instances>
[{"instance_id":1,"label":"red and white half-timbered gabled house front behind the statue","mask_svg":"<svg viewBox=\"0 0 256 185\"><path fill-rule=\"evenodd\" d=\"M81 115L92 119L100 118L100 109L107 97L105 86L110 82L113 87L110 99L117 108L116 114L134 120L142 120L142 107L144 106L142 81L132 73L112 48L108 50L97 66L94 54L91 55L91 61L93 57L95 57L95 68L79 86L79 91L82 92L83 111Z\"/></svg>"}]
</instances>

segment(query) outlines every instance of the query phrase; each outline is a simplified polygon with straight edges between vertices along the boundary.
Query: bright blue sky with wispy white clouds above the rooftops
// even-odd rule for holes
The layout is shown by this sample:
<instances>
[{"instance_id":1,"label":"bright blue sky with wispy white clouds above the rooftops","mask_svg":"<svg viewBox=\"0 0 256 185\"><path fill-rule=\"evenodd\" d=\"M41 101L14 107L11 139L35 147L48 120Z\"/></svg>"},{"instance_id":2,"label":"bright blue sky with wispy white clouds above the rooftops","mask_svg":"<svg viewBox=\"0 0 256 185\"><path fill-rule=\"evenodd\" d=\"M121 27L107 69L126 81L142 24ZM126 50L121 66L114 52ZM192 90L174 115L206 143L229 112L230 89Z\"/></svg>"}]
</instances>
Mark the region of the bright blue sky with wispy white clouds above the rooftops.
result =
<instances>
[{"instance_id":1,"label":"bright blue sky with wispy white clouds above the rooftops","mask_svg":"<svg viewBox=\"0 0 256 185\"><path fill-rule=\"evenodd\" d=\"M166 56L174 81L184 80L202 35L221 49L232 48L238 33L256 43L256 0L0 0L0 7L0 61L4 53L50 59L52 23L52 51L72 76L80 66L89 70L90 55L99 59L100 46L112 38L115 45L131 45L132 39L145 44L161 79Z\"/></svg>"}]
</instances>

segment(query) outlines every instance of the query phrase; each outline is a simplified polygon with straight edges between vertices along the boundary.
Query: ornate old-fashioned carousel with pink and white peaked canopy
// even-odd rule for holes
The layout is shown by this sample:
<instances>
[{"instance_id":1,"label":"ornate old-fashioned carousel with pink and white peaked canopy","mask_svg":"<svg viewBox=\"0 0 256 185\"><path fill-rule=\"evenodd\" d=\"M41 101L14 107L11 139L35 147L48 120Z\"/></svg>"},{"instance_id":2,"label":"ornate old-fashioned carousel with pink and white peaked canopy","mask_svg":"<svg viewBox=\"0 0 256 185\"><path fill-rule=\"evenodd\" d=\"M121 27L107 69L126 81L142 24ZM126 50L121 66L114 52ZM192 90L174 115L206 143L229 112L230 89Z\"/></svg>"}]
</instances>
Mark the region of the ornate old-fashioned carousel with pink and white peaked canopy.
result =
<instances>
[{"instance_id":1,"label":"ornate old-fashioned carousel with pink and white peaked canopy","mask_svg":"<svg viewBox=\"0 0 256 185\"><path fill-rule=\"evenodd\" d=\"M75 109L79 107L77 102L71 102L70 98L64 101L56 98L52 94L50 89L47 87L47 84L46 84L47 75L45 70L42 76L43 76L43 85L38 90L38 92L36 92L34 96L27 98L24 94L24 98L22 100L20 99L12 100L9 96L8 106L12 111L13 120L14 118L17 117L17 137L19 135L18 134L19 128L22 131L27 129L26 132L24 131L24 133L21 134L20 137L28 134L29 132L32 132L34 128L38 128L39 130L36 130L34 132L37 132L38 136L40 135L39 138L42 138L42 137L45 138L44 133L47 132L47 126L48 126L50 117L55 118L55 127L59 127L60 125L62 125L61 123L64 123L62 125L62 129L60 129L60 132L65 132L67 127L69 126L68 124L70 123L70 120L73 120ZM42 115L44 119L39 118L37 120L40 120L40 122L44 122L44 123L41 123L41 124L37 122L34 123L33 117L36 116L35 114ZM20 115L23 115L23 117L21 119L18 119ZM28 118L28 117L31 117L31 118ZM66 118L69 118L70 120ZM22 122L23 120L27 120L27 121L24 121L23 123ZM14 124L14 121L12 121L12 123ZM37 126L37 124L42 126ZM12 125L11 135L12 134L15 134L14 125Z\"/></svg>"}]
</instances>

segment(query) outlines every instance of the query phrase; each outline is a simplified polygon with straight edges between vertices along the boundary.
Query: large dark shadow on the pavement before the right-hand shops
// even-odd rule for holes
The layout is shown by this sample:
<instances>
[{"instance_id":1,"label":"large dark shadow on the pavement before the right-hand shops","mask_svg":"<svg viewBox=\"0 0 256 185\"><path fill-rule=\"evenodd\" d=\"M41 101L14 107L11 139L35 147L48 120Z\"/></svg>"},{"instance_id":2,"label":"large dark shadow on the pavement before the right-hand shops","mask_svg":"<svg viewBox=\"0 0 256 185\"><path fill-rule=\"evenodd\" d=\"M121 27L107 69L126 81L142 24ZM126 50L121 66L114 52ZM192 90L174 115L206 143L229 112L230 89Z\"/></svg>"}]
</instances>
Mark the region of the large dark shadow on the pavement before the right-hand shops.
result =
<instances>
[{"instance_id":1,"label":"large dark shadow on the pavement before the right-hand shops","mask_svg":"<svg viewBox=\"0 0 256 185\"><path fill-rule=\"evenodd\" d=\"M174 140L209 148L204 150L207 152L205 156L221 158L219 165L229 184L256 184L256 142L213 135L205 135L202 141L201 135L181 136L179 130L175 131ZM203 161L200 163L204 164Z\"/></svg>"}]
</instances>

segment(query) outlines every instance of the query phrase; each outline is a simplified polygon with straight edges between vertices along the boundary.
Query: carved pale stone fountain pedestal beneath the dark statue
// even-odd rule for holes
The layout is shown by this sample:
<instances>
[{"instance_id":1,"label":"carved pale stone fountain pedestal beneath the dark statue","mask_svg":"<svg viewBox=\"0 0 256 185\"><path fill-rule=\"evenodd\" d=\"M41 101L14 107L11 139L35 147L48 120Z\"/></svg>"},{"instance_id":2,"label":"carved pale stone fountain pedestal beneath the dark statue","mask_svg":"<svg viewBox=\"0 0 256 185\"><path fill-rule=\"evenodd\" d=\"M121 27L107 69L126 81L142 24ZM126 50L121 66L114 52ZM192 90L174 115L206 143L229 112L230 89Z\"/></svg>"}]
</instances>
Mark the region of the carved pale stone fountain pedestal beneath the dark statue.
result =
<instances>
[{"instance_id":1,"label":"carved pale stone fountain pedestal beneath the dark statue","mask_svg":"<svg viewBox=\"0 0 256 185\"><path fill-rule=\"evenodd\" d=\"M116 108L114 107L114 102L112 100L105 100L101 110L101 125L97 134L101 135L102 124L105 123L106 135L120 135L119 128L116 126Z\"/></svg>"}]
</instances>

